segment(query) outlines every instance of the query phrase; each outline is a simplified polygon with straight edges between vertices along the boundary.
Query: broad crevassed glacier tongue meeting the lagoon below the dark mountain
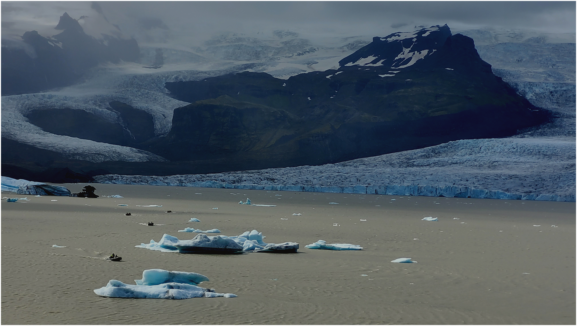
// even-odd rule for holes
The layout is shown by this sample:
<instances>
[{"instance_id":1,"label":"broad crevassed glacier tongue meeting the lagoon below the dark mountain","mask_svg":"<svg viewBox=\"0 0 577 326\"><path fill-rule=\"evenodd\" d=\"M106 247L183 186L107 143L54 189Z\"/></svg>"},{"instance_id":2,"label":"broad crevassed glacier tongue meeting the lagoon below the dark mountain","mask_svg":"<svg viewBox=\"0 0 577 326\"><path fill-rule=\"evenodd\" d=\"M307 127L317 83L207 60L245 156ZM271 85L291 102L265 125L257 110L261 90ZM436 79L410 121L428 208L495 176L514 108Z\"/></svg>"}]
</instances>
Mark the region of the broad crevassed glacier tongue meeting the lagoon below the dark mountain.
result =
<instances>
[{"instance_id":1,"label":"broad crevassed glacier tongue meeting the lagoon below the dark mountain","mask_svg":"<svg viewBox=\"0 0 577 326\"><path fill-rule=\"evenodd\" d=\"M337 164L208 175L96 176L98 183L575 201L575 138L456 140Z\"/></svg>"}]
</instances>

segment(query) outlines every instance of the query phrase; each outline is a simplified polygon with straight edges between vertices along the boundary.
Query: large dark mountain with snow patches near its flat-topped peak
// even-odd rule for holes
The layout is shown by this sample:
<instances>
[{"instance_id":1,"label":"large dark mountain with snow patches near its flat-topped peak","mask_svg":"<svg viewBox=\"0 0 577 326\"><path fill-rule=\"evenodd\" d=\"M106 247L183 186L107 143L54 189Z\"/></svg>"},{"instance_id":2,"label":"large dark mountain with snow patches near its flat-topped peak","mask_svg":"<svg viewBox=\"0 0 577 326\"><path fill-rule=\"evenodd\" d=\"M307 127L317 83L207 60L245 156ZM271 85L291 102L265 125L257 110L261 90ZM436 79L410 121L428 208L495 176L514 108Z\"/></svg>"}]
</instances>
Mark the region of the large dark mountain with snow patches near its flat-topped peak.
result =
<instances>
[{"instance_id":1,"label":"large dark mountain with snow patches near its flat-topped peak","mask_svg":"<svg viewBox=\"0 0 577 326\"><path fill-rule=\"evenodd\" d=\"M288 80L243 72L167 83L174 98L198 102L175 110L173 129L147 150L179 161L234 157L246 161L242 169L250 162L319 165L513 135L548 118L493 75L473 39L451 35L447 26L374 38L339 63L338 69ZM238 113L207 105L222 98ZM250 118L264 124L254 124L255 131L238 128L239 112L248 111L234 101L282 110L295 119L287 124L255 112Z\"/></svg>"}]
</instances>

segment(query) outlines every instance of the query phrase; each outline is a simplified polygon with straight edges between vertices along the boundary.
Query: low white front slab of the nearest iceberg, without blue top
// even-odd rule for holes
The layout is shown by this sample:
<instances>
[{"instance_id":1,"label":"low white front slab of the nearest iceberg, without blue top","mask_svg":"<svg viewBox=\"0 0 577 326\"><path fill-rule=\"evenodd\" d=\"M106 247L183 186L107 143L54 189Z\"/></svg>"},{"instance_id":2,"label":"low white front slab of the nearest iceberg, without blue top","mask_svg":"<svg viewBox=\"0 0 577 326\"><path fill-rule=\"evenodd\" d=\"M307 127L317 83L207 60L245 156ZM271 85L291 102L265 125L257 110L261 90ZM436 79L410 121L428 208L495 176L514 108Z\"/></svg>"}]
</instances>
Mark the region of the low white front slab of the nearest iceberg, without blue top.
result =
<instances>
[{"instance_id":1,"label":"low white front slab of the nearest iceberg, without blue top","mask_svg":"<svg viewBox=\"0 0 577 326\"><path fill-rule=\"evenodd\" d=\"M153 286L124 284L118 280L110 280L105 287L94 292L100 297L110 298L148 298L148 299L190 299L190 298L235 298L232 293L217 293L211 289L183 283L162 283Z\"/></svg>"}]
</instances>

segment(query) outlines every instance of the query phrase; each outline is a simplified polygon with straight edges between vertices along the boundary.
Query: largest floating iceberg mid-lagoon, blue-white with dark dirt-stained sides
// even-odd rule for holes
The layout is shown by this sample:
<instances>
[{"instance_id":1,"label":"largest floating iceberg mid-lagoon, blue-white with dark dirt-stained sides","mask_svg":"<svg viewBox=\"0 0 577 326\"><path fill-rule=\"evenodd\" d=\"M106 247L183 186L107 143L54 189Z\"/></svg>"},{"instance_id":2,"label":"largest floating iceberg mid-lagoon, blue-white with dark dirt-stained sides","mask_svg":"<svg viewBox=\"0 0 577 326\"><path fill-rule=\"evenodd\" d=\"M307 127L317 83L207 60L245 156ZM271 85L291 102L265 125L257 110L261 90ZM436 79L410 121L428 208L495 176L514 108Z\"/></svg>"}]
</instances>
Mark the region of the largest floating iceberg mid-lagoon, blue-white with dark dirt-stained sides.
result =
<instances>
[{"instance_id":1,"label":"largest floating iceberg mid-lagoon, blue-white with dark dirt-stained sides","mask_svg":"<svg viewBox=\"0 0 577 326\"><path fill-rule=\"evenodd\" d=\"M298 243L296 242L266 243L263 238L263 234L256 230L246 231L237 236L199 234L191 240L179 240L175 236L164 234L159 242L151 240L150 243L141 243L140 246L135 247L170 253L297 252Z\"/></svg>"}]
</instances>

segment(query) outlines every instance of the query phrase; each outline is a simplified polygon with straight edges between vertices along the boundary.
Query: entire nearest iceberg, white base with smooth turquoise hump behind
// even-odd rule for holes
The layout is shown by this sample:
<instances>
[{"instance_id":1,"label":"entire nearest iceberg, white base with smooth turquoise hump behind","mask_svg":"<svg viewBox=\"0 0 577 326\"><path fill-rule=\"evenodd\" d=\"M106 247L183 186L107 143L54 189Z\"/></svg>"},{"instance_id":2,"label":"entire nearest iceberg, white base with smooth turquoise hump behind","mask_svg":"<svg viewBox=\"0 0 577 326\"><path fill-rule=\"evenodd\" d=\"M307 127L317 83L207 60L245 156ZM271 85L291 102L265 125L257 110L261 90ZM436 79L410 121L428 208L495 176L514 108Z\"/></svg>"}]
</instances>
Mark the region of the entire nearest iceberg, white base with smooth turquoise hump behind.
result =
<instances>
[{"instance_id":1,"label":"entire nearest iceberg, white base with smooth turquoise hump behind","mask_svg":"<svg viewBox=\"0 0 577 326\"><path fill-rule=\"evenodd\" d=\"M147 269L142 280L134 280L137 285L110 280L105 287L94 292L100 297L147 298L147 299L190 299L190 298L235 298L232 293L218 293L213 288L198 287L196 284L208 281L208 277L197 273L168 272L164 269ZM198 282L198 283L197 283ZM140 284L139 284L140 283Z\"/></svg>"}]
</instances>

